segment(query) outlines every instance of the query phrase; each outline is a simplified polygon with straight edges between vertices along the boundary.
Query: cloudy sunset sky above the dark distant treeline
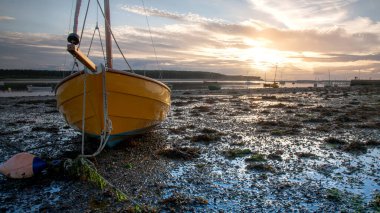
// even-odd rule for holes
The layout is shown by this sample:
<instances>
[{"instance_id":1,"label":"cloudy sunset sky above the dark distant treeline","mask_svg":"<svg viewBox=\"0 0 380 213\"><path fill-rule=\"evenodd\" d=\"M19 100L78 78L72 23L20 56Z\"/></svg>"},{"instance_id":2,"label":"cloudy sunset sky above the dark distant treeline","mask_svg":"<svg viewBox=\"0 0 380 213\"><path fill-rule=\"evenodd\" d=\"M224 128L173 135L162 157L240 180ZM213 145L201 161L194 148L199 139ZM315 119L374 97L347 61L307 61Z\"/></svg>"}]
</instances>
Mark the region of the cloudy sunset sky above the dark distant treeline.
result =
<instances>
[{"instance_id":1,"label":"cloudy sunset sky above the dark distant treeline","mask_svg":"<svg viewBox=\"0 0 380 213\"><path fill-rule=\"evenodd\" d=\"M113 32L134 69L283 79L380 79L379 0L110 0ZM69 70L71 0L2 0L0 69ZM82 16L87 0L82 3ZM148 16L158 65L145 19ZM71 16L70 16L71 15ZM104 32L99 13L99 26ZM82 50L97 20L91 1ZM103 37L104 39L104 37ZM91 54L102 61L101 48ZM115 68L127 69L114 47Z\"/></svg>"}]
</instances>

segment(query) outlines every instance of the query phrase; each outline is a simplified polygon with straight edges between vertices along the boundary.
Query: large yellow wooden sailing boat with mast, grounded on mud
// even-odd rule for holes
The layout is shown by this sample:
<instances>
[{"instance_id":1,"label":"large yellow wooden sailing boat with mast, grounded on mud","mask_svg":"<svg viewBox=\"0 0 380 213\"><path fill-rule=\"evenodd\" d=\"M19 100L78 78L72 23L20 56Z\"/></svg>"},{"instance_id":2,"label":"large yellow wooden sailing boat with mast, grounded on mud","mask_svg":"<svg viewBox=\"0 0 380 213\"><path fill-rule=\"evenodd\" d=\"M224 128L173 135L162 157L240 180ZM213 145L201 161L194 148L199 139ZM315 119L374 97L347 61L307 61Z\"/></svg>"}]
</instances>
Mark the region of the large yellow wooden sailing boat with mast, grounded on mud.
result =
<instances>
[{"instance_id":1,"label":"large yellow wooden sailing boat with mast, grounded on mud","mask_svg":"<svg viewBox=\"0 0 380 213\"><path fill-rule=\"evenodd\" d=\"M157 80L112 69L108 0L104 8L106 20L108 17L107 68L97 73L101 66L95 66L74 41L68 44L68 51L94 73L80 71L66 77L57 85L55 93L59 112L66 122L86 135L100 137L110 121L112 130L107 145L112 147L125 137L144 133L162 122L170 109L171 91Z\"/></svg>"}]
</instances>

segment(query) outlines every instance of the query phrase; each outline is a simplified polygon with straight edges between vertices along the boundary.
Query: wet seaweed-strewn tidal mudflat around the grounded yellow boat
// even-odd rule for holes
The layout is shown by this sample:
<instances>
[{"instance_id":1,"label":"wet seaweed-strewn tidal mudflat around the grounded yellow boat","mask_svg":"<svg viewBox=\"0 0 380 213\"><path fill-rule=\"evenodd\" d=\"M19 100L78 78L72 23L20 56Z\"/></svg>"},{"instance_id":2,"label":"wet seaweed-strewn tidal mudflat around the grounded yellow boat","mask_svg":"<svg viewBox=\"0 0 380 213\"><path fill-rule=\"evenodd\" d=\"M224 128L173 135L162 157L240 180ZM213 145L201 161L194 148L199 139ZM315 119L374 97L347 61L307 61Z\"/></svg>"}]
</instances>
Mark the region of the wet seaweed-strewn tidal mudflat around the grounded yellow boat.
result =
<instances>
[{"instance_id":1,"label":"wet seaweed-strewn tidal mudflat around the grounded yellow boat","mask_svg":"<svg viewBox=\"0 0 380 213\"><path fill-rule=\"evenodd\" d=\"M379 88L173 91L164 123L90 159L127 201L46 172L1 176L0 212L375 212L379 109ZM0 120L0 162L79 154L53 96L0 98Z\"/></svg>"}]
</instances>

